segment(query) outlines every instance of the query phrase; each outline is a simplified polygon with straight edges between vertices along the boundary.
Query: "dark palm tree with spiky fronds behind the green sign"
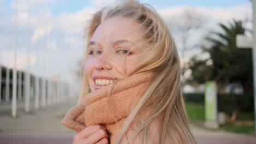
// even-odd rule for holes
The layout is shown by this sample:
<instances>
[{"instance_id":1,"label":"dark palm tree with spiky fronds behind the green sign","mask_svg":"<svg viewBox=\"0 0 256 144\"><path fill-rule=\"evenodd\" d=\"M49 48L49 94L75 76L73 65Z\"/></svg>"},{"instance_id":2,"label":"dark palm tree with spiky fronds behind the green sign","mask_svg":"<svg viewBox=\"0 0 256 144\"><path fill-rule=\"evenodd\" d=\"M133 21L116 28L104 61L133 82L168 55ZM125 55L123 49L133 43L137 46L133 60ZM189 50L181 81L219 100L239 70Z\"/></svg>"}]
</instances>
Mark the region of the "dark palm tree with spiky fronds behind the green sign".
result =
<instances>
[{"instance_id":1,"label":"dark palm tree with spiky fronds behind the green sign","mask_svg":"<svg viewBox=\"0 0 256 144\"><path fill-rule=\"evenodd\" d=\"M223 32L212 32L211 37L206 38L210 44L202 46L203 51L210 54L213 62L211 67L205 65L207 69L211 69L205 81L209 79L216 81L219 93L225 92L228 83L240 83L244 92L252 92L252 50L238 49L236 46L236 35L245 33L242 21L233 20L229 25L219 23L219 27ZM193 73L198 74L196 71ZM203 74L202 77L204 77Z\"/></svg>"}]
</instances>

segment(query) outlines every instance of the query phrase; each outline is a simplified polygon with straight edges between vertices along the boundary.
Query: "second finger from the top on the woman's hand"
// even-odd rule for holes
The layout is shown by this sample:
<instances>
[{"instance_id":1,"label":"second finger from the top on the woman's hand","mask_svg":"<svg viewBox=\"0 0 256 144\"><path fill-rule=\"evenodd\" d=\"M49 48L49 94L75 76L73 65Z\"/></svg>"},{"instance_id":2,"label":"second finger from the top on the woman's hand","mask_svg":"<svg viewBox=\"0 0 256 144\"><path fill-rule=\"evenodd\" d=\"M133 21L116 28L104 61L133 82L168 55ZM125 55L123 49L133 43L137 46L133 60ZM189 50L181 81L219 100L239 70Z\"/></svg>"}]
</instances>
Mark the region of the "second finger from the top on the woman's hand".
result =
<instances>
[{"instance_id":1,"label":"second finger from the top on the woman's hand","mask_svg":"<svg viewBox=\"0 0 256 144\"><path fill-rule=\"evenodd\" d=\"M85 143L96 143L103 138L108 138L108 134L106 130L100 129L84 140L85 140Z\"/></svg>"}]
</instances>

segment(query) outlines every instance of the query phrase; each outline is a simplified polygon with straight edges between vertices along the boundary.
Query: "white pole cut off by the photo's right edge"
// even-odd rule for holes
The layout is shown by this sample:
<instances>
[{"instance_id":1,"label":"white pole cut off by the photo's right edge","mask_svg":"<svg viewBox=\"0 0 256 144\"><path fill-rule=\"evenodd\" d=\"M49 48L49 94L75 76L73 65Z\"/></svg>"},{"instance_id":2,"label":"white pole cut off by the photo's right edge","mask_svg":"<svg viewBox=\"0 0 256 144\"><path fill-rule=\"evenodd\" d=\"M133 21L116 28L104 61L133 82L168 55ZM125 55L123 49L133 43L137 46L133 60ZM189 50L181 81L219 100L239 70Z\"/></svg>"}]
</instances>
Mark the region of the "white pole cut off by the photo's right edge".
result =
<instances>
[{"instance_id":1,"label":"white pole cut off by the photo's right edge","mask_svg":"<svg viewBox=\"0 0 256 144\"><path fill-rule=\"evenodd\" d=\"M254 132L256 133L256 0L253 3L253 89L254 89Z\"/></svg>"}]
</instances>

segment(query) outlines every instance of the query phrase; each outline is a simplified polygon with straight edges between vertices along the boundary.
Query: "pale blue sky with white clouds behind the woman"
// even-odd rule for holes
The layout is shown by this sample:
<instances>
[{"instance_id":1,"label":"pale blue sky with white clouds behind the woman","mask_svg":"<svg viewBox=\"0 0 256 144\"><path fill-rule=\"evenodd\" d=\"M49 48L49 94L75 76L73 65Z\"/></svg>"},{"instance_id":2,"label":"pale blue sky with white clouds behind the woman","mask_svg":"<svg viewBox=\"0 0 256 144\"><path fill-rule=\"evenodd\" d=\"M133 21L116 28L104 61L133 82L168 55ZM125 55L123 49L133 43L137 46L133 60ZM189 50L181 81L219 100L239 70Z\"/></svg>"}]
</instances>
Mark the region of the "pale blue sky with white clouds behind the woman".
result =
<instances>
[{"instance_id":1,"label":"pale blue sky with white clouds behind the woman","mask_svg":"<svg viewBox=\"0 0 256 144\"><path fill-rule=\"evenodd\" d=\"M16 4L17 2L17 4ZM113 0L0 0L0 64L14 67L15 29L17 29L18 69L50 79L61 75L62 80L74 81L74 71L83 57L83 29L91 15ZM252 19L249 0L179 0L139 1L151 5L163 17L176 40L177 47L184 33L178 31L186 21L185 11L193 13L200 27L190 29L187 47L201 43L210 31L218 31L218 23L232 19ZM18 7L16 6L18 5ZM18 12L18 14L17 14ZM17 23L15 25L15 16ZM195 25L198 21L194 21ZM247 22L246 27L252 28ZM177 30L178 29L178 30ZM28 49L30 47L30 49ZM190 50L183 60L199 53ZM27 56L30 64L27 64ZM206 56L207 57L207 56Z\"/></svg>"}]
</instances>

